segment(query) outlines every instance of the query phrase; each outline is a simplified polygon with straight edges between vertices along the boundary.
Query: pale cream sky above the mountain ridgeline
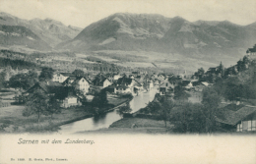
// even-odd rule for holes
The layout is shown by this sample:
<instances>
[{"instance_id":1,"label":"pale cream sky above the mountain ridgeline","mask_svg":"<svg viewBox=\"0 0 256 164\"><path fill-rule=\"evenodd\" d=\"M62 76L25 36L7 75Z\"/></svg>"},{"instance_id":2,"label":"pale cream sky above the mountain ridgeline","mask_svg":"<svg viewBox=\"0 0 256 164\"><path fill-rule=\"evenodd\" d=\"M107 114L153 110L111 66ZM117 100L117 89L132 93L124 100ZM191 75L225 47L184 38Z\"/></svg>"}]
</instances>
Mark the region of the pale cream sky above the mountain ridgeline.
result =
<instances>
[{"instance_id":1,"label":"pale cream sky above the mountain ridgeline","mask_svg":"<svg viewBox=\"0 0 256 164\"><path fill-rule=\"evenodd\" d=\"M50 18L83 28L114 13L249 25L256 22L255 9L256 0L0 0L0 12L26 20Z\"/></svg>"}]
</instances>

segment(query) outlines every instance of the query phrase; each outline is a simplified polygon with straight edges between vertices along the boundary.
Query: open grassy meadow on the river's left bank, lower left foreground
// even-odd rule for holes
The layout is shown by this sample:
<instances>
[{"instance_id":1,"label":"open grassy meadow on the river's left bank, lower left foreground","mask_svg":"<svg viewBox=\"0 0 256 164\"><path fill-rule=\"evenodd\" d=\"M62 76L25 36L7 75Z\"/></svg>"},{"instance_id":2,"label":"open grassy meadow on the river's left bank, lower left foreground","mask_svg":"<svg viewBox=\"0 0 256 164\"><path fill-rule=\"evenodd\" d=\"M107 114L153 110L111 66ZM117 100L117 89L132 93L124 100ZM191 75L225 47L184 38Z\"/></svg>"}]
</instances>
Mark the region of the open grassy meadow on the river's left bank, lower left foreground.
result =
<instances>
[{"instance_id":1,"label":"open grassy meadow on the river's left bank, lower left foreground","mask_svg":"<svg viewBox=\"0 0 256 164\"><path fill-rule=\"evenodd\" d=\"M6 125L5 133L26 133L37 131L48 131L65 122L87 117L91 113L84 108L63 109L60 114L54 114L51 120L50 116L40 116L40 123L37 124L37 116L23 116L25 106L9 106L0 108L0 125ZM2 130L3 131L3 130Z\"/></svg>"}]
</instances>

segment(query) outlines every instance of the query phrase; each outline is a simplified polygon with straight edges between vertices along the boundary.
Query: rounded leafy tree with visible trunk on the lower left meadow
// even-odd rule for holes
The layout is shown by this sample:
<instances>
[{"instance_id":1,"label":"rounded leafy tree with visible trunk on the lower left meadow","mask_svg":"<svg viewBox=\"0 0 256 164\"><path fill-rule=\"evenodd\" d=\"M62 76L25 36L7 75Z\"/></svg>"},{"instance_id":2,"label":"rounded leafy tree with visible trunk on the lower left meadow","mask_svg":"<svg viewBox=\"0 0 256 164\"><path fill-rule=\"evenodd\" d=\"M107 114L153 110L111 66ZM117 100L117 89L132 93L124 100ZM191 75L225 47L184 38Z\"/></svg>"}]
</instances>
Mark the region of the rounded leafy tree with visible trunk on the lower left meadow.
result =
<instances>
[{"instance_id":1,"label":"rounded leafy tree with visible trunk on the lower left meadow","mask_svg":"<svg viewBox=\"0 0 256 164\"><path fill-rule=\"evenodd\" d=\"M34 90L26 102L27 108L23 111L23 116L29 117L36 115L37 123L39 124L41 115L49 115L48 100L47 95L43 91L39 89Z\"/></svg>"}]
</instances>

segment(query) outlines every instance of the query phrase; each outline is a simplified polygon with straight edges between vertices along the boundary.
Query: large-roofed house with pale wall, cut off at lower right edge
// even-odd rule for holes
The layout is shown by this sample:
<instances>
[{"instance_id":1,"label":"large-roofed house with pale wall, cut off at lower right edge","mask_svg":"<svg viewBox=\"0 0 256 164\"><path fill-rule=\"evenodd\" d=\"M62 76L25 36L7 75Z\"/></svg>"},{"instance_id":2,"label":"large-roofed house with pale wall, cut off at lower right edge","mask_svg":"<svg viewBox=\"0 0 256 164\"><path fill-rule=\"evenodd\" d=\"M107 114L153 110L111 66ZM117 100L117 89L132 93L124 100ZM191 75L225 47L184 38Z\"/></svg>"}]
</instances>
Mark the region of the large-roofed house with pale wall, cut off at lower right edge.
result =
<instances>
[{"instance_id":1,"label":"large-roofed house with pale wall, cut off at lower right edge","mask_svg":"<svg viewBox=\"0 0 256 164\"><path fill-rule=\"evenodd\" d=\"M227 131L256 132L256 107L229 104L224 107L224 116L216 121Z\"/></svg>"}]
</instances>

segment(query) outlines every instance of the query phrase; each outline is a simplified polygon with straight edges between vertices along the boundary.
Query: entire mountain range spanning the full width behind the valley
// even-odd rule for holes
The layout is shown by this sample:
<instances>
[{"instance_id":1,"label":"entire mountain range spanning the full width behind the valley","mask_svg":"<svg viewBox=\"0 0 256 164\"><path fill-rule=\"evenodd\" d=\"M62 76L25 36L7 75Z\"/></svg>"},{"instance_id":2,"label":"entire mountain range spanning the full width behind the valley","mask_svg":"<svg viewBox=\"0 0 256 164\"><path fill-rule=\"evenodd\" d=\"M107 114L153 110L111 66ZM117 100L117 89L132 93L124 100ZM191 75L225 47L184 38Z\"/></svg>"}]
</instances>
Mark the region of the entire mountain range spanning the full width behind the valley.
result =
<instances>
[{"instance_id":1,"label":"entire mountain range spanning the full width behind the valley","mask_svg":"<svg viewBox=\"0 0 256 164\"><path fill-rule=\"evenodd\" d=\"M2 45L82 53L157 52L212 63L237 61L256 43L256 23L189 22L157 14L116 13L82 29L51 19L28 21L0 13L0 25Z\"/></svg>"}]
</instances>

